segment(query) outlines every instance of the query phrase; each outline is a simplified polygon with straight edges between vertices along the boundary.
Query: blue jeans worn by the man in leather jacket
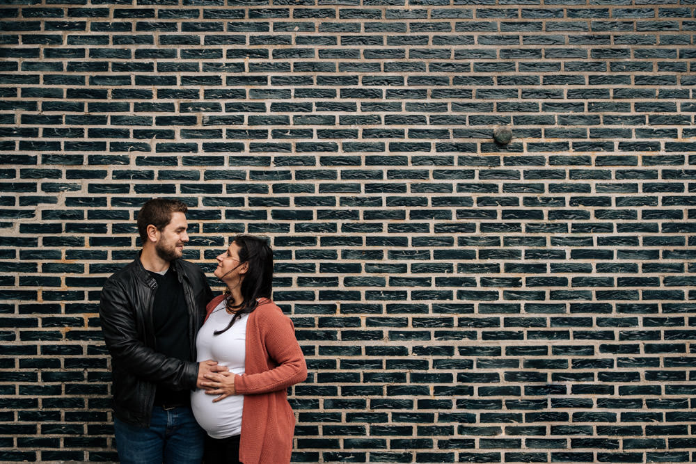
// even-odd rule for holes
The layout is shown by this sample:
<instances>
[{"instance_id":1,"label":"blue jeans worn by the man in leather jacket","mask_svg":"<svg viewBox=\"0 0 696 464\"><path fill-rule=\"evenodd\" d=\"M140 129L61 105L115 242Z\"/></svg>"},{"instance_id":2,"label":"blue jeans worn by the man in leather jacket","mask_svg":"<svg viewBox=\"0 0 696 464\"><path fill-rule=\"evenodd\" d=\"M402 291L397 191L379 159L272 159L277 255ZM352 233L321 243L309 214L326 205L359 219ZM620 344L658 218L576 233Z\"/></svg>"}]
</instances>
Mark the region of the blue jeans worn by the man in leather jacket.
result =
<instances>
[{"instance_id":1,"label":"blue jeans worn by the man in leather jacket","mask_svg":"<svg viewBox=\"0 0 696 464\"><path fill-rule=\"evenodd\" d=\"M122 464L200 464L205 431L191 408L164 410L155 406L150 427L113 420L116 449Z\"/></svg>"}]
</instances>

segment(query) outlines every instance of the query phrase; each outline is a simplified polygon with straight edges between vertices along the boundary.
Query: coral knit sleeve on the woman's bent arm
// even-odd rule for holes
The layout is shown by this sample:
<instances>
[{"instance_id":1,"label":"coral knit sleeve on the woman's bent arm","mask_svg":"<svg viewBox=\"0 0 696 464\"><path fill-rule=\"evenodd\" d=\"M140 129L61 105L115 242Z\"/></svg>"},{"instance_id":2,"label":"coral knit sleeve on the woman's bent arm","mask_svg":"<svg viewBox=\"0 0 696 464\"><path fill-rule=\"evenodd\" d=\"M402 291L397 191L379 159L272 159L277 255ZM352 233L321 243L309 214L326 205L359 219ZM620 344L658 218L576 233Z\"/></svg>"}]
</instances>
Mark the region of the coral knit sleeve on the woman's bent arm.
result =
<instances>
[{"instance_id":1,"label":"coral knit sleeve on the woman's bent arm","mask_svg":"<svg viewBox=\"0 0 696 464\"><path fill-rule=\"evenodd\" d=\"M260 314L260 322L267 330L260 330L262 343L276 367L259 374L235 376L238 394L261 394L285 390L307 378L307 364L295 338L290 318L283 312L269 311Z\"/></svg>"}]
</instances>

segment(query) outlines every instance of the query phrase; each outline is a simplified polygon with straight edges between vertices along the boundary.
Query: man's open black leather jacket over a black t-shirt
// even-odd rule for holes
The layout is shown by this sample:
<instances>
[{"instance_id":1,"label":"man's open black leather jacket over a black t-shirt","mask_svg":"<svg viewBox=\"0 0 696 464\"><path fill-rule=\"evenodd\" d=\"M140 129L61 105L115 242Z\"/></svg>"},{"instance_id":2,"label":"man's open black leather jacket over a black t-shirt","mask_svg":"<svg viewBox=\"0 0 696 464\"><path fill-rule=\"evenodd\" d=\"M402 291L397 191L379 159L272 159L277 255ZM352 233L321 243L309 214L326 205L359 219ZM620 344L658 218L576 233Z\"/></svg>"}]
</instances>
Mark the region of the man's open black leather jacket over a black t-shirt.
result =
<instances>
[{"instance_id":1,"label":"man's open black leather jacket over a black t-shirt","mask_svg":"<svg viewBox=\"0 0 696 464\"><path fill-rule=\"evenodd\" d=\"M212 291L203 271L182 259L171 262L189 309L188 343L196 359L196 334ZM155 351L152 301L157 282L139 257L111 275L102 288L99 314L106 348L111 353L113 412L135 426L150 426L157 383L173 390L194 390L198 363L167 358Z\"/></svg>"}]
</instances>

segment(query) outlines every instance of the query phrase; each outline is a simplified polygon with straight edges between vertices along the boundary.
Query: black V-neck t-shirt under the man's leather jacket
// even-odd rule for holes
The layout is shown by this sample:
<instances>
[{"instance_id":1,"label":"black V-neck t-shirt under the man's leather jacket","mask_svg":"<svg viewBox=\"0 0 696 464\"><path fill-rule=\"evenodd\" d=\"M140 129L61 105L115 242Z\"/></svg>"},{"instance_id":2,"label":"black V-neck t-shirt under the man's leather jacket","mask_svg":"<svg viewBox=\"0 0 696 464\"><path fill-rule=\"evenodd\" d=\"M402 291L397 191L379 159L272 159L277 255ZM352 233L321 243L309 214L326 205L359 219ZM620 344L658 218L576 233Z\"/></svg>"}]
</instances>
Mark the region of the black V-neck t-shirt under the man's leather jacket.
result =
<instances>
[{"instance_id":1,"label":"black V-neck t-shirt under the man's leather jacket","mask_svg":"<svg viewBox=\"0 0 696 464\"><path fill-rule=\"evenodd\" d=\"M189 342L189 310L182 287L173 266L164 275L149 271L157 281L155 301L152 303L152 323L155 326L157 352L168 358L193 361ZM189 390L171 390L157 385L155 405L189 404Z\"/></svg>"}]
</instances>

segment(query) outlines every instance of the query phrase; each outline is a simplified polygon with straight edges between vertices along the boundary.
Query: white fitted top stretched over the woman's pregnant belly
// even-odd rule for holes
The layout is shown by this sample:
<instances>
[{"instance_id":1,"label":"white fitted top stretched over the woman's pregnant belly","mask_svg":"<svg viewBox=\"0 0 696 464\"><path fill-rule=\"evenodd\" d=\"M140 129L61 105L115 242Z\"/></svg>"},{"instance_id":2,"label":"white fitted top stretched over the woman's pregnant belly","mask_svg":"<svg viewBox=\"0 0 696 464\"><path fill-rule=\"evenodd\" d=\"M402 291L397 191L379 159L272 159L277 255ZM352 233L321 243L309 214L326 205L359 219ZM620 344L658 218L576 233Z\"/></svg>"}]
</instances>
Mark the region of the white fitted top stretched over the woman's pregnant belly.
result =
<instances>
[{"instance_id":1,"label":"white fitted top stretched over the woman's pregnant belly","mask_svg":"<svg viewBox=\"0 0 696 464\"><path fill-rule=\"evenodd\" d=\"M232 319L225 310L226 300L210 313L196 337L197 362L212 359L226 366L234 374L244 374L246 356L246 321L249 315L243 314L235 324L220 335L215 330L223 330ZM191 409L196 421L212 438L228 438L242 433L242 408L244 395L235 394L213 403L219 395L206 394L205 390L191 392Z\"/></svg>"}]
</instances>

